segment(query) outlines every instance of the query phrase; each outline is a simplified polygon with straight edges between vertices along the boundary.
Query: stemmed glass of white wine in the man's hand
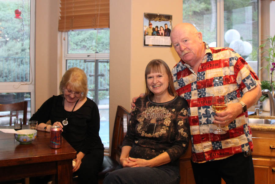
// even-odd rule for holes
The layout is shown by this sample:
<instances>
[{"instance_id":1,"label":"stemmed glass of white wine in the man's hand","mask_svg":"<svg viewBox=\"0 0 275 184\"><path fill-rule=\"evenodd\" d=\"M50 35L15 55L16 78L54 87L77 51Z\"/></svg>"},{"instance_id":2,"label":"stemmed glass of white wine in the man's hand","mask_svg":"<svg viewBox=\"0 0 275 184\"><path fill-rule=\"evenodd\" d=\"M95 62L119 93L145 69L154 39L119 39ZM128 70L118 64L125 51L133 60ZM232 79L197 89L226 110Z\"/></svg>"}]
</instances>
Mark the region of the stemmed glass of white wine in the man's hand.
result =
<instances>
[{"instance_id":1,"label":"stemmed glass of white wine in the man's hand","mask_svg":"<svg viewBox=\"0 0 275 184\"><path fill-rule=\"evenodd\" d=\"M226 110L227 103L228 103L227 95L213 94L212 108L216 112L222 112L222 111ZM225 134L226 131L222 130L221 125L219 124L218 129L214 130L213 133L215 133L215 134Z\"/></svg>"}]
</instances>

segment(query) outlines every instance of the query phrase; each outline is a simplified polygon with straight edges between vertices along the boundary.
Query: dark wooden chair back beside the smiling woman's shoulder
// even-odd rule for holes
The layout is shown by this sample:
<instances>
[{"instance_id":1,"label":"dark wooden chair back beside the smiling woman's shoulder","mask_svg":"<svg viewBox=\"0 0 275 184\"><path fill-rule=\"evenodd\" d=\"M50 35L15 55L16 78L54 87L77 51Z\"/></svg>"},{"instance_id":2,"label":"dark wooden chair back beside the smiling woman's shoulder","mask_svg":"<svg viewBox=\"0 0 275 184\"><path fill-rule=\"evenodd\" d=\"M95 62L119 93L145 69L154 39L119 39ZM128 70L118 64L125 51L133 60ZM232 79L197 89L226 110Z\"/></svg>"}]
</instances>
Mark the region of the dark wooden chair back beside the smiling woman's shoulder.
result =
<instances>
[{"instance_id":1,"label":"dark wooden chair back beside the smiling woman's shoulder","mask_svg":"<svg viewBox=\"0 0 275 184\"><path fill-rule=\"evenodd\" d=\"M111 157L116 160L116 156L120 157L123 138L127 133L127 122L130 119L130 112L122 106L117 106L116 118L112 138Z\"/></svg>"}]
</instances>

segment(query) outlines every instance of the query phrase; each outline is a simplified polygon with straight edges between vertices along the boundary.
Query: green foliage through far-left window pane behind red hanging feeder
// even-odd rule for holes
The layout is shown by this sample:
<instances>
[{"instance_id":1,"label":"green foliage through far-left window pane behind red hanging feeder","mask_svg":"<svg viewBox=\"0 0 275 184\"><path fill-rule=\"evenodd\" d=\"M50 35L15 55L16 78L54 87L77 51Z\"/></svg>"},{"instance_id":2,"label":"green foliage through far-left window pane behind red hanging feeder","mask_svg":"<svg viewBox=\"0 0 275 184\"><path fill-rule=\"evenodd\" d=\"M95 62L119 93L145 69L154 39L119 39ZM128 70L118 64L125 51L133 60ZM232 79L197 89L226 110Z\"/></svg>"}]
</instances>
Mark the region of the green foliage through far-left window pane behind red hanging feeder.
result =
<instances>
[{"instance_id":1,"label":"green foliage through far-left window pane behind red hanging feeder","mask_svg":"<svg viewBox=\"0 0 275 184\"><path fill-rule=\"evenodd\" d=\"M29 81L30 66L30 1L0 1L0 82ZM16 19L14 11L21 10ZM24 35L24 36L23 36ZM23 45L22 45L23 44Z\"/></svg>"}]
</instances>

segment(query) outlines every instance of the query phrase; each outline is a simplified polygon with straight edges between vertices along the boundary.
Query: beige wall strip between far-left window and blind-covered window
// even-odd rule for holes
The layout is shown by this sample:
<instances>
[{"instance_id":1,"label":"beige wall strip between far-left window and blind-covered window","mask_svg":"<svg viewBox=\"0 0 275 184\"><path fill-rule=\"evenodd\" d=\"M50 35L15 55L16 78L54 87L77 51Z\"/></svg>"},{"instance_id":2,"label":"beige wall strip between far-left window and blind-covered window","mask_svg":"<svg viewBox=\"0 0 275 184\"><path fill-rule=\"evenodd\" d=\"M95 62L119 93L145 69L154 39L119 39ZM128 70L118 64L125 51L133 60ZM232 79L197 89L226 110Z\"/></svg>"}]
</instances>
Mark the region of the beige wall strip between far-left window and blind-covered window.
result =
<instances>
[{"instance_id":1,"label":"beige wall strip between far-left window and blind-covered window","mask_svg":"<svg viewBox=\"0 0 275 184\"><path fill-rule=\"evenodd\" d=\"M58 1L36 1L35 5L35 111L57 95L62 60L58 57ZM61 53L62 54L62 53Z\"/></svg>"}]
</instances>

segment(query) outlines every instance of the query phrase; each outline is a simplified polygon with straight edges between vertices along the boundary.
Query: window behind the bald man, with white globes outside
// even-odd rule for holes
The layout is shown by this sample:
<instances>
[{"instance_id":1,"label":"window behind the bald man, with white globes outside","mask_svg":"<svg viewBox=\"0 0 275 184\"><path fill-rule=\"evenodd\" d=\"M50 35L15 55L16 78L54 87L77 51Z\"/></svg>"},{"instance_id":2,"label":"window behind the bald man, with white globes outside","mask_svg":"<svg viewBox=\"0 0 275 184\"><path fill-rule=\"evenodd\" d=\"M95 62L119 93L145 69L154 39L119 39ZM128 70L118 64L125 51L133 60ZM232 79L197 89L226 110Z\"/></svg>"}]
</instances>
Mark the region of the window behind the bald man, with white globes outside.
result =
<instances>
[{"instance_id":1,"label":"window behind the bald man, with white globes outside","mask_svg":"<svg viewBox=\"0 0 275 184\"><path fill-rule=\"evenodd\" d=\"M233 48L258 72L258 1L183 0L183 22L210 47Z\"/></svg>"}]
</instances>

